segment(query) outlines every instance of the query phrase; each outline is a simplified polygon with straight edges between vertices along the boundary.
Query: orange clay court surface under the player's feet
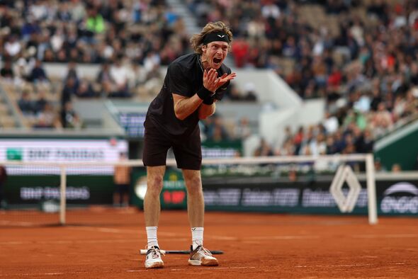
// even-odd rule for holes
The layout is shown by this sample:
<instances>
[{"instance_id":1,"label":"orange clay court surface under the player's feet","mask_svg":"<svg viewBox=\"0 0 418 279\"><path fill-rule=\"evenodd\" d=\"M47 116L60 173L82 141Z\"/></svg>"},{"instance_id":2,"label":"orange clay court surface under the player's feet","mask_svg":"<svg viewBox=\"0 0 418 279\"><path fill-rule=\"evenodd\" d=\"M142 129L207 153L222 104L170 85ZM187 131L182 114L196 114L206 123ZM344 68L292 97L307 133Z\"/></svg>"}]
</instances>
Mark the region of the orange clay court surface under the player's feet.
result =
<instances>
[{"instance_id":1,"label":"orange clay court surface under the player's feet","mask_svg":"<svg viewBox=\"0 0 418 279\"><path fill-rule=\"evenodd\" d=\"M220 266L187 255L144 268L142 211L90 208L57 215L0 212L0 278L418 278L418 218L206 212L205 246ZM185 211L162 211L159 244L186 250Z\"/></svg>"}]
</instances>

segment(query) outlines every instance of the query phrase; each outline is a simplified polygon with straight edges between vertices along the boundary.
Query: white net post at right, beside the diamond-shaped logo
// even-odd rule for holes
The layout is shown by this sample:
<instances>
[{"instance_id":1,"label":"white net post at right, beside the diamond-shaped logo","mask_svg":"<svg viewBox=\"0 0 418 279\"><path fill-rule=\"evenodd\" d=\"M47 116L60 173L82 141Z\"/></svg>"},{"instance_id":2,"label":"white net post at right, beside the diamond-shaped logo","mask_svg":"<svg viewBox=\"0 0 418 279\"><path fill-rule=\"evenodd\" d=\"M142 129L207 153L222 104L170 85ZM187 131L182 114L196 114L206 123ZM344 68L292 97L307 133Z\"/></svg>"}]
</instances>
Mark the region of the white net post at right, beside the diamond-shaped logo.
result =
<instances>
[{"instance_id":1,"label":"white net post at right, beside the diamond-shaped logo","mask_svg":"<svg viewBox=\"0 0 418 279\"><path fill-rule=\"evenodd\" d=\"M373 154L366 154L366 181L368 198L368 223L378 224L378 205L376 201L375 167Z\"/></svg>"}]
</instances>

